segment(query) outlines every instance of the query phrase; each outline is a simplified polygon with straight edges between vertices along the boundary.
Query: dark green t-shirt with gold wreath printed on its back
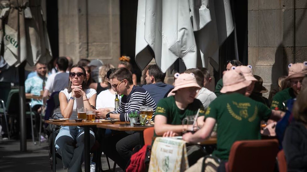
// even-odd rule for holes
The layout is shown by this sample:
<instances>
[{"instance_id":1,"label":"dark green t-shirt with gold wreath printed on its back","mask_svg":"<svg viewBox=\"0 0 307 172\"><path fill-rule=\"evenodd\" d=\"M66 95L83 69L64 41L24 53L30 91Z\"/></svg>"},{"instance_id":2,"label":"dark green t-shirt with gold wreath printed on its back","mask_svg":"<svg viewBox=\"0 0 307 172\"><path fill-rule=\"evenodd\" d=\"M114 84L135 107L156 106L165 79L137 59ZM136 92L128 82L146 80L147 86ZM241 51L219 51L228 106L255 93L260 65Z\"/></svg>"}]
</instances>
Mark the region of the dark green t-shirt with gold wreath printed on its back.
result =
<instances>
[{"instance_id":1,"label":"dark green t-shirt with gold wreath printed on its back","mask_svg":"<svg viewBox=\"0 0 307 172\"><path fill-rule=\"evenodd\" d=\"M217 149L213 154L227 160L235 141L260 139L260 121L270 116L269 107L242 94L217 97L205 113L206 118L215 118L217 123Z\"/></svg>"}]
</instances>

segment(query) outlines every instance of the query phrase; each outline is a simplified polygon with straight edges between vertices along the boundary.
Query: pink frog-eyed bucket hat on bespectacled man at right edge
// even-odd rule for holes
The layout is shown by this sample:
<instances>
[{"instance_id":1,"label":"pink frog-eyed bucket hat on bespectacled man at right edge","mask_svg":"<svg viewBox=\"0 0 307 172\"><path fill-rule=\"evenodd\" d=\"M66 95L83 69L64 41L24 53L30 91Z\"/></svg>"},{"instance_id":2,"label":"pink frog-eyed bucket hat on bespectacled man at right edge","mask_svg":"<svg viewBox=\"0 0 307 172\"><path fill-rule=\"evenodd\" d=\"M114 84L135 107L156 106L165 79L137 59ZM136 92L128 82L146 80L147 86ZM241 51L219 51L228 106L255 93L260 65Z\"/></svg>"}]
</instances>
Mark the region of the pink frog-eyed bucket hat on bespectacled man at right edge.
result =
<instances>
[{"instance_id":1,"label":"pink frog-eyed bucket hat on bespectacled man at right edge","mask_svg":"<svg viewBox=\"0 0 307 172\"><path fill-rule=\"evenodd\" d=\"M288 65L289 73L286 79L300 78L307 75L307 61L303 63L290 63Z\"/></svg>"}]
</instances>

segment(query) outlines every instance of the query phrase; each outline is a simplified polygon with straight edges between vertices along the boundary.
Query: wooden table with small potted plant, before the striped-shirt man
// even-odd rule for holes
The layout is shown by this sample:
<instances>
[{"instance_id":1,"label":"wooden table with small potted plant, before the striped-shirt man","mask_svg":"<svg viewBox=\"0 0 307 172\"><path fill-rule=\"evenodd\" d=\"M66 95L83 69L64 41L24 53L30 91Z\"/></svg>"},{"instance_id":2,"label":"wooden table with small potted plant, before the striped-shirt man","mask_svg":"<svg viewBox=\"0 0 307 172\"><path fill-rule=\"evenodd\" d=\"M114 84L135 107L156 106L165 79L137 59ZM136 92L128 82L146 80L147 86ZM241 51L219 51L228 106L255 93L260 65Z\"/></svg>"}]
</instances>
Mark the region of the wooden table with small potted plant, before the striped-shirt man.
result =
<instances>
[{"instance_id":1,"label":"wooden table with small potted plant, before the striped-shirt man","mask_svg":"<svg viewBox=\"0 0 307 172\"><path fill-rule=\"evenodd\" d=\"M136 131L140 133L140 147L142 148L145 143L144 143L144 133L143 131L146 128L153 127L153 125L150 126L131 126L131 125L120 125L120 124L113 124L113 125L108 125L108 124L97 124L97 128L105 128L105 129L111 129L111 130L117 130L117 131Z\"/></svg>"}]
</instances>

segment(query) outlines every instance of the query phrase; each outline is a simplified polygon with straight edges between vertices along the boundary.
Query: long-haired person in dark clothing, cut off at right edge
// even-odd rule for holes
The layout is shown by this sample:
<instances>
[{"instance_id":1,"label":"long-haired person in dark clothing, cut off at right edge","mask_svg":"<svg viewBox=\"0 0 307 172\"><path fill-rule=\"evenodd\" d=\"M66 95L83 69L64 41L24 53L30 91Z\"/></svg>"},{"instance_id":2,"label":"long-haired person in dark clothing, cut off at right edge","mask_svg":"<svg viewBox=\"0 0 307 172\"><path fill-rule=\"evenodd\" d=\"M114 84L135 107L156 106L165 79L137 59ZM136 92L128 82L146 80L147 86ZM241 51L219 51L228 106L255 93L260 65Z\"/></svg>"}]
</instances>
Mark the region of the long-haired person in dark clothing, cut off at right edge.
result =
<instances>
[{"instance_id":1,"label":"long-haired person in dark clothing, cut off at right edge","mask_svg":"<svg viewBox=\"0 0 307 172\"><path fill-rule=\"evenodd\" d=\"M294 120L287 127L282 142L288 171L307 169L307 88L300 92L293 105Z\"/></svg>"}]
</instances>

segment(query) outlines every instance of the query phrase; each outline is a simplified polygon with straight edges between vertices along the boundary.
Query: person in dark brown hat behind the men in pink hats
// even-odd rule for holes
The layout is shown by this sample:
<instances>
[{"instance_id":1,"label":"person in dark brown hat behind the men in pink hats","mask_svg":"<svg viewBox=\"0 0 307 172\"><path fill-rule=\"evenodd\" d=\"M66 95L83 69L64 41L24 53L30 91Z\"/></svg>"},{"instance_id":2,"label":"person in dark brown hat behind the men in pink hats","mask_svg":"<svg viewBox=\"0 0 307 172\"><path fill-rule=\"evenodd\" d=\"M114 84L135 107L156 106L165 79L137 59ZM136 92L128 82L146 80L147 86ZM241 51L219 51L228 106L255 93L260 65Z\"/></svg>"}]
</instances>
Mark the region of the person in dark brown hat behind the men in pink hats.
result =
<instances>
[{"instance_id":1,"label":"person in dark brown hat behind the men in pink hats","mask_svg":"<svg viewBox=\"0 0 307 172\"><path fill-rule=\"evenodd\" d=\"M260 76L254 75L254 77L258 80L255 82L255 86L252 94L249 96L251 99L257 102L261 102L265 104L267 107L270 107L270 102L267 98L262 96L262 93L268 92L268 90L262 86L263 80Z\"/></svg>"}]
</instances>

